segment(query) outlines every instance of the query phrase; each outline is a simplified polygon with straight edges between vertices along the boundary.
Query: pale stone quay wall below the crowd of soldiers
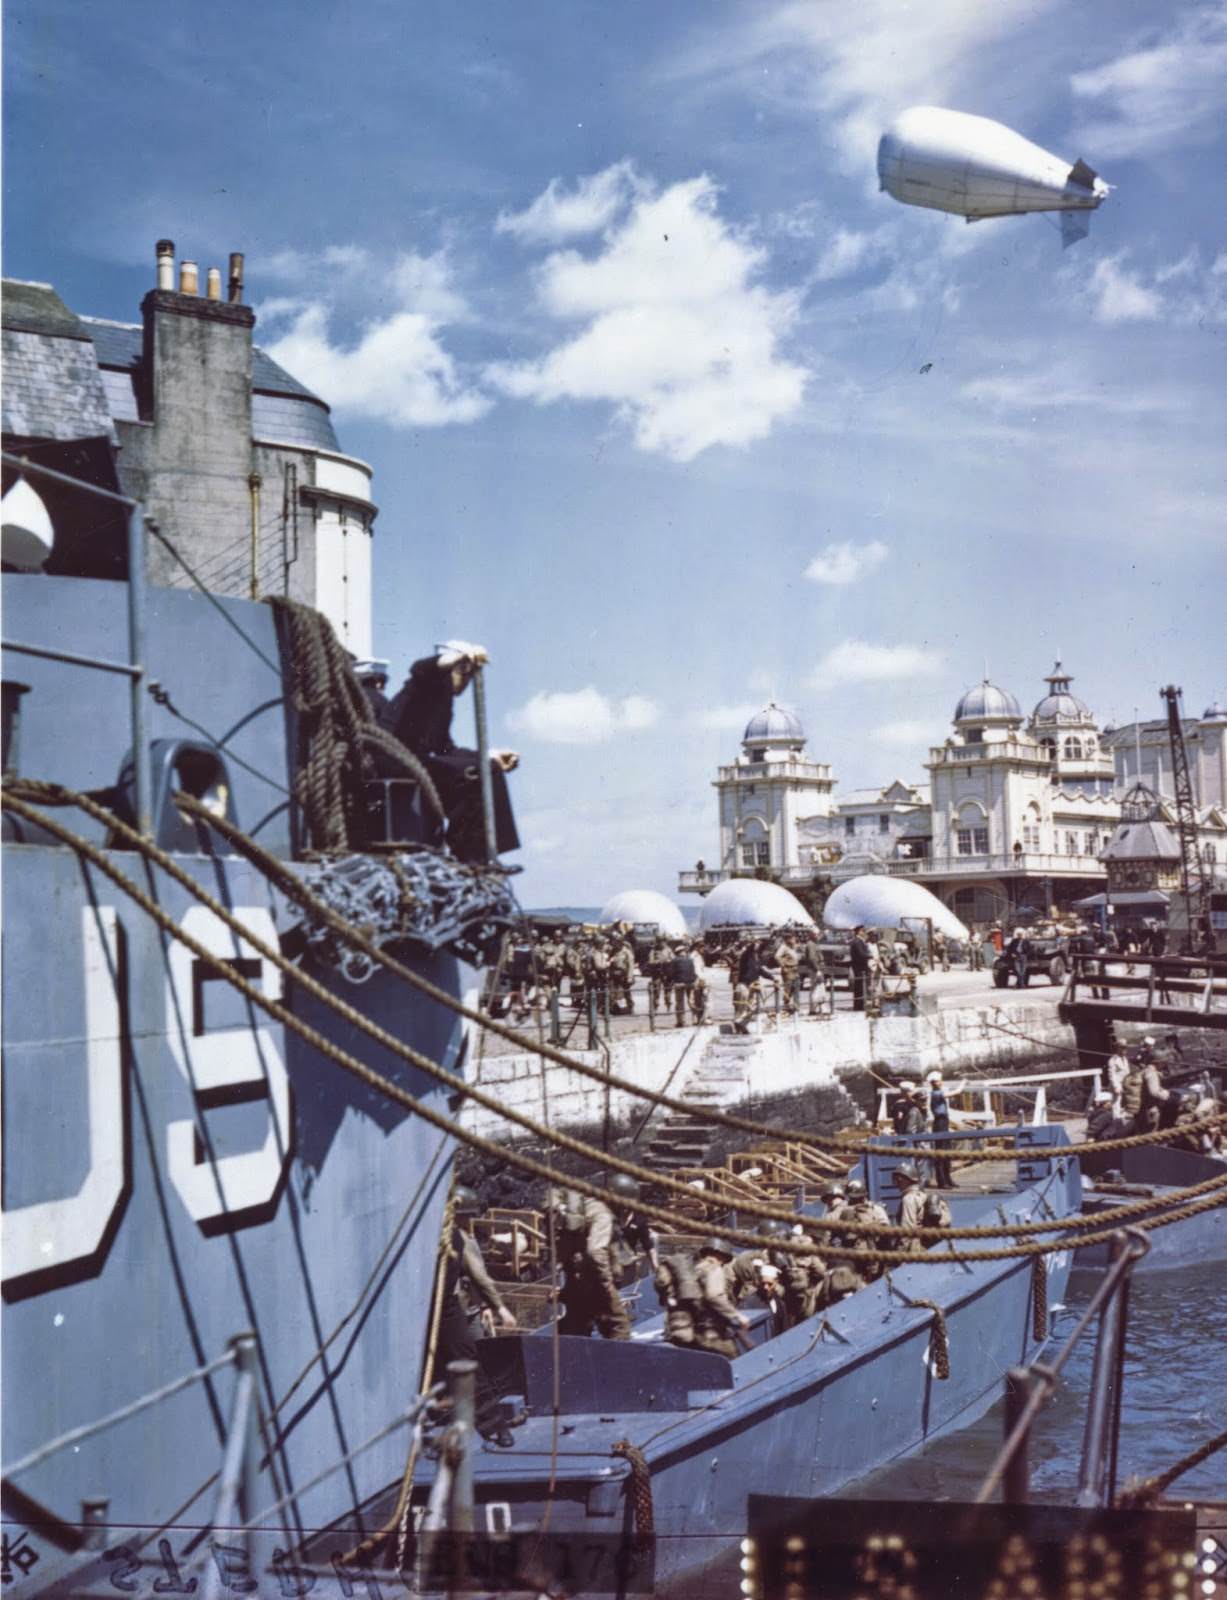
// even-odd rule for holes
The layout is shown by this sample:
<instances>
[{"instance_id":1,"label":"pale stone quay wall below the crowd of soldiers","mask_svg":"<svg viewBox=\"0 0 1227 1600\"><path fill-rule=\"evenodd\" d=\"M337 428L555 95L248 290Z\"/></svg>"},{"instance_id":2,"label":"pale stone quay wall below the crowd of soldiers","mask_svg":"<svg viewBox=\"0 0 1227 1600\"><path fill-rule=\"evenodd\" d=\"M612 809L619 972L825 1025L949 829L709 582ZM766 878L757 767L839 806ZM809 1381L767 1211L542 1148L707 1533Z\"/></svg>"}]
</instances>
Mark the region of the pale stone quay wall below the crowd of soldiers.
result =
<instances>
[{"instance_id":1,"label":"pale stone quay wall below the crowd of soldiers","mask_svg":"<svg viewBox=\"0 0 1227 1600\"><path fill-rule=\"evenodd\" d=\"M718 1026L659 1034L633 1034L610 1045L610 1066L640 1088L681 1094ZM867 1069L918 1075L941 1067L947 1075L973 1066L1022 1066L1070 1050L1072 1030L1057 1021L1053 1005L990 1003L923 1011L920 1016L867 1018L838 1013L827 1021L798 1019L768 1026L744 1053L745 1094L726 1109L761 1117L795 1096L848 1082L856 1093ZM603 1051L574 1051L582 1061L605 1066ZM1072 1061L1069 1062L1073 1064ZM592 1136L608 1130L617 1141L638 1126L648 1101L608 1088L536 1054L483 1056L475 1042L466 1077L550 1128ZM854 1088L856 1085L856 1088ZM864 1094L857 1094L864 1099ZM867 1107L865 1107L867 1109ZM656 1117L662 1115L661 1112ZM461 1123L491 1139L523 1139L493 1110L466 1102Z\"/></svg>"}]
</instances>

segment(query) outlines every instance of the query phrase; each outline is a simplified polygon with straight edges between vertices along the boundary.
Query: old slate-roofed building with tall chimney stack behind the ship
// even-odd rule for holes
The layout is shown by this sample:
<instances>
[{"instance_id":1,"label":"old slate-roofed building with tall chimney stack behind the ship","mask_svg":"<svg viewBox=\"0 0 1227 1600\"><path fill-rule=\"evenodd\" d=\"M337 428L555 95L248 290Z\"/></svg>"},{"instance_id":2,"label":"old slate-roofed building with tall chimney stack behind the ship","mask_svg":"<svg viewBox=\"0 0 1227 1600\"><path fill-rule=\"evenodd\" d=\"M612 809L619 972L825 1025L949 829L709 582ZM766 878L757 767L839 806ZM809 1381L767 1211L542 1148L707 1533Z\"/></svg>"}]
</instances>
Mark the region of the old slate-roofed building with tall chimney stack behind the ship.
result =
<instances>
[{"instance_id":1,"label":"old slate-roofed building with tall chimney stack behind the ship","mask_svg":"<svg viewBox=\"0 0 1227 1600\"><path fill-rule=\"evenodd\" d=\"M141 320L78 315L50 283L3 283L5 450L139 499L218 595L286 595L371 653L371 469L342 451L328 405L253 342L243 258L200 293L157 245ZM8 488L10 474L5 474ZM56 525L48 573L117 578L123 520L40 486ZM149 578L192 578L157 539Z\"/></svg>"}]
</instances>

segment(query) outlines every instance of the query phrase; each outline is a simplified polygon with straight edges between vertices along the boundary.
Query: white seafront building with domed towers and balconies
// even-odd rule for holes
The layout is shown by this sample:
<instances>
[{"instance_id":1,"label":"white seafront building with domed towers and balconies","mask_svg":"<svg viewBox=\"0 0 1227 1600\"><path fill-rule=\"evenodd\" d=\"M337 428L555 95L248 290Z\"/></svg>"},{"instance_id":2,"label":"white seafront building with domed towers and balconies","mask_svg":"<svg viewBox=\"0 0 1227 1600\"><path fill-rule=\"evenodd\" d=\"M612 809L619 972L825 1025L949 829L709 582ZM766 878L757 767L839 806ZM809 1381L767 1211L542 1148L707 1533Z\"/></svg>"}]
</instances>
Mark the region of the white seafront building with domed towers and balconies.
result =
<instances>
[{"instance_id":1,"label":"white seafront building with domed towers and balconies","mask_svg":"<svg viewBox=\"0 0 1227 1600\"><path fill-rule=\"evenodd\" d=\"M774 701L745 726L742 754L713 781L715 866L680 874L678 890L707 894L736 875L829 890L864 872L909 877L965 923L1011 910L1061 910L1107 891L1109 862L1129 856L1139 803L1176 838L1166 722L1101 728L1056 662L1030 715L990 683L957 702L949 736L929 749L928 782L894 778L837 795L827 763L806 750L795 712ZM1198 846L1211 872L1227 862L1227 709L1184 722ZM1145 798L1126 794L1144 779ZM1157 835L1158 837L1158 835ZM1176 845L1179 867L1179 845ZM1152 882L1153 877L1153 882ZM1161 914L1169 874L1136 888L1117 882L1113 904Z\"/></svg>"}]
</instances>

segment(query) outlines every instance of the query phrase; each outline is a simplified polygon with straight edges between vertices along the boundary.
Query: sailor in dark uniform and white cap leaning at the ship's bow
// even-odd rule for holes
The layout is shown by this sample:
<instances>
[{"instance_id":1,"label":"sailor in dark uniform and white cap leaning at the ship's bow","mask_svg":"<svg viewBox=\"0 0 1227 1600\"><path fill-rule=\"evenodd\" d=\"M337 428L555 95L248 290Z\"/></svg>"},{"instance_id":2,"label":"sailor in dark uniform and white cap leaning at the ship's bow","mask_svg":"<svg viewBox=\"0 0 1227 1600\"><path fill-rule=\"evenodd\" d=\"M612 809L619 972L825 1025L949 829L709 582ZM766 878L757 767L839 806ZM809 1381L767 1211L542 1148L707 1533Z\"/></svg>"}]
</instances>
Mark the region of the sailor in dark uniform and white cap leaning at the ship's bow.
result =
<instances>
[{"instance_id":1,"label":"sailor in dark uniform and white cap leaning at the ship's bow","mask_svg":"<svg viewBox=\"0 0 1227 1600\"><path fill-rule=\"evenodd\" d=\"M486 838L482 813L482 774L477 750L456 746L451 714L474 674L490 654L483 645L448 638L410 667L405 685L392 701L392 733L426 763L448 813L448 843L461 861L485 861ZM520 848L506 773L518 765L515 750L490 752L494 800L494 848L499 854Z\"/></svg>"}]
</instances>

